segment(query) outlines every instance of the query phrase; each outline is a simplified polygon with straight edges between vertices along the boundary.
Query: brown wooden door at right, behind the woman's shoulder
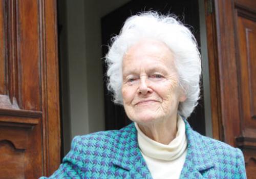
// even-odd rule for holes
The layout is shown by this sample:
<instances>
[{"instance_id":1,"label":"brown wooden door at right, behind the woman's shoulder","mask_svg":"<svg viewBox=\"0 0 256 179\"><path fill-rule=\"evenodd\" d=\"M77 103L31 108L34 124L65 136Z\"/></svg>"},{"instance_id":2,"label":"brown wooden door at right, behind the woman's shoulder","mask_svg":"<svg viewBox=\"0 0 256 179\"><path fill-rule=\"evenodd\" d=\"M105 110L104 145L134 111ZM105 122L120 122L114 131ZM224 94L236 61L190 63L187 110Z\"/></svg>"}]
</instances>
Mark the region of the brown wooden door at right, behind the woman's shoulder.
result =
<instances>
[{"instance_id":1,"label":"brown wooden door at right, behind the woman's shoulder","mask_svg":"<svg viewBox=\"0 0 256 179\"><path fill-rule=\"evenodd\" d=\"M256 1L205 2L214 137L241 148L255 178Z\"/></svg>"}]
</instances>

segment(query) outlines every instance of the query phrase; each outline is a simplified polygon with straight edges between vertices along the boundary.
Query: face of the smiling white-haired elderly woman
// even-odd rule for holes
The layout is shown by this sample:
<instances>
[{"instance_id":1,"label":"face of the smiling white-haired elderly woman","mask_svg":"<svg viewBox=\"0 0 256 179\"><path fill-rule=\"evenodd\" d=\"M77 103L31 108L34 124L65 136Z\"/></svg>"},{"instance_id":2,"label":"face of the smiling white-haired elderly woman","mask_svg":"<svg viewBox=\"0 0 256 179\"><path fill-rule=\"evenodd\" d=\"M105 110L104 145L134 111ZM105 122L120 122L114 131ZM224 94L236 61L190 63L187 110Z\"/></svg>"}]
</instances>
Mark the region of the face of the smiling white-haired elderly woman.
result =
<instances>
[{"instance_id":1,"label":"face of the smiling white-haired elderly woman","mask_svg":"<svg viewBox=\"0 0 256 179\"><path fill-rule=\"evenodd\" d=\"M139 123L169 120L185 101L178 84L172 51L160 41L141 40L124 55L123 105L127 116Z\"/></svg>"}]
</instances>

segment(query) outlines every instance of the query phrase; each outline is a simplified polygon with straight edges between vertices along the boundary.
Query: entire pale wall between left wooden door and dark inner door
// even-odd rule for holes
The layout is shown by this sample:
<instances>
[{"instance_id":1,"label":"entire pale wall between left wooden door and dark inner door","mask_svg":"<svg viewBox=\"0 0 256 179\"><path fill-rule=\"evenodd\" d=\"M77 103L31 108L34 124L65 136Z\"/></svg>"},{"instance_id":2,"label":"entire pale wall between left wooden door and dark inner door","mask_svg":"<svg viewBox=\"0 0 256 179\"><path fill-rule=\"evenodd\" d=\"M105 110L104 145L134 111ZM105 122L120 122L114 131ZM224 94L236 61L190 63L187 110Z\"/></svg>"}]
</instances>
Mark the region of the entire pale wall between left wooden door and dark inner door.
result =
<instances>
[{"instance_id":1,"label":"entire pale wall between left wooden door and dark inner door","mask_svg":"<svg viewBox=\"0 0 256 179\"><path fill-rule=\"evenodd\" d=\"M63 123L70 126L64 124L63 131L70 135L67 139L104 130L100 20L126 2L129 0L66 0L69 83L66 101L70 102L67 104L70 114L64 117ZM63 140L64 153L70 149L70 140Z\"/></svg>"}]
</instances>

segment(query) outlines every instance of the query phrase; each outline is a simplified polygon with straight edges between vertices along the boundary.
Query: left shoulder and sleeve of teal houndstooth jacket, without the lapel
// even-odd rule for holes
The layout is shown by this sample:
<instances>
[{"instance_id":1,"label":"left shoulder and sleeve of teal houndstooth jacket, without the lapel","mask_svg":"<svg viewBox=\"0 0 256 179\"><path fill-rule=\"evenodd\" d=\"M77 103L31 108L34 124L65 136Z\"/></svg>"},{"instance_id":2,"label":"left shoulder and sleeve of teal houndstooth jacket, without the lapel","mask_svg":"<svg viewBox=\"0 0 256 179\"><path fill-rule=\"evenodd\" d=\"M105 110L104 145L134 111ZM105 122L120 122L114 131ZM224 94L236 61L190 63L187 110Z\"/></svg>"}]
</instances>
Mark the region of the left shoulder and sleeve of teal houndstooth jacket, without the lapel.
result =
<instances>
[{"instance_id":1,"label":"left shoulder and sleeve of teal houndstooth jacket, without the lapel","mask_svg":"<svg viewBox=\"0 0 256 179\"><path fill-rule=\"evenodd\" d=\"M118 147L117 141L123 132L127 133L130 130L131 125L120 130L76 136L72 140L71 150L63 158L58 170L49 178L98 178L97 174L100 172L107 173L110 161L115 155L113 150Z\"/></svg>"}]
</instances>

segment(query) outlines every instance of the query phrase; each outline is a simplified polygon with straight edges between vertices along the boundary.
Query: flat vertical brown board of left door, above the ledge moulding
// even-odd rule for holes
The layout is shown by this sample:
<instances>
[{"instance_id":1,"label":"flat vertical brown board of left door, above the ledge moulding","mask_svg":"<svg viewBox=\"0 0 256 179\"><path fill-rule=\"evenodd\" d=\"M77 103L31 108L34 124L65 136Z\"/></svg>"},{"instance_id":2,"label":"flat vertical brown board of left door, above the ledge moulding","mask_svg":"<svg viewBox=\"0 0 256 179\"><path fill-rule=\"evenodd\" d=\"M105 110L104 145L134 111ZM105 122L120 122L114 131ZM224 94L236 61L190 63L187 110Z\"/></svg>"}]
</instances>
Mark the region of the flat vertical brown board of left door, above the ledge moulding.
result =
<instances>
[{"instance_id":1,"label":"flat vertical brown board of left door, above the ledge moulding","mask_svg":"<svg viewBox=\"0 0 256 179\"><path fill-rule=\"evenodd\" d=\"M18 53L17 72L19 74L19 100L18 103L27 110L41 110L40 96L40 57L39 57L39 1L15 0L17 8L16 48ZM15 10L13 10L15 12ZM14 25L15 28L15 25ZM26 100L23 98L26 97Z\"/></svg>"}]
</instances>

